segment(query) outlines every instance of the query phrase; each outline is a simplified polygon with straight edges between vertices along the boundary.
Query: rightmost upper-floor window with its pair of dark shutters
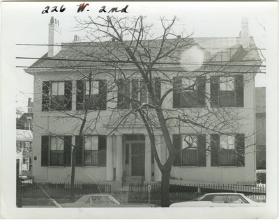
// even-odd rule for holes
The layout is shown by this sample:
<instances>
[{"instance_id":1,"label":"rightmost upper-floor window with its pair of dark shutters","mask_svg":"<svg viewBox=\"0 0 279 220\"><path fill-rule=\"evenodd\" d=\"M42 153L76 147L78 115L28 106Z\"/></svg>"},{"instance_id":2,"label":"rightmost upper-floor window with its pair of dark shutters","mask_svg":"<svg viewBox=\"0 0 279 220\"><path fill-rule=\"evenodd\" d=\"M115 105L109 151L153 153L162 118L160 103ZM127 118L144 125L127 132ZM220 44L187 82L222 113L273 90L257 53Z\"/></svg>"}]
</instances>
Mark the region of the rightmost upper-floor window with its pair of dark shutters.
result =
<instances>
[{"instance_id":1,"label":"rightmost upper-floor window with its pair of dark shutters","mask_svg":"<svg viewBox=\"0 0 279 220\"><path fill-rule=\"evenodd\" d=\"M211 107L243 107L243 75L211 77Z\"/></svg>"}]
</instances>

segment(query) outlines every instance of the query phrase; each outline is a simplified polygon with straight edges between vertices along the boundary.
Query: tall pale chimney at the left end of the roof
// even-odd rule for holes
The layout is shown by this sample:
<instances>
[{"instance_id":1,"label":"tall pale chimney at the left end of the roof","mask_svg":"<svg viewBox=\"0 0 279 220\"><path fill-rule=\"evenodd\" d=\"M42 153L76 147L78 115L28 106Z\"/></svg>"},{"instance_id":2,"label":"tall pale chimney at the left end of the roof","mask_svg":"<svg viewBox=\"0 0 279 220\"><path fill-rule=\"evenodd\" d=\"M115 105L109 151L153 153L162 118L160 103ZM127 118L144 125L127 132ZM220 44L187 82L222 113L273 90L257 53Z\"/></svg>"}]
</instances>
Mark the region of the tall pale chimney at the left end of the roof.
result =
<instances>
[{"instance_id":1,"label":"tall pale chimney at the left end of the roof","mask_svg":"<svg viewBox=\"0 0 279 220\"><path fill-rule=\"evenodd\" d=\"M47 57L54 57L61 51L61 29L59 27L59 20L50 18L48 24L48 54Z\"/></svg>"}]
</instances>

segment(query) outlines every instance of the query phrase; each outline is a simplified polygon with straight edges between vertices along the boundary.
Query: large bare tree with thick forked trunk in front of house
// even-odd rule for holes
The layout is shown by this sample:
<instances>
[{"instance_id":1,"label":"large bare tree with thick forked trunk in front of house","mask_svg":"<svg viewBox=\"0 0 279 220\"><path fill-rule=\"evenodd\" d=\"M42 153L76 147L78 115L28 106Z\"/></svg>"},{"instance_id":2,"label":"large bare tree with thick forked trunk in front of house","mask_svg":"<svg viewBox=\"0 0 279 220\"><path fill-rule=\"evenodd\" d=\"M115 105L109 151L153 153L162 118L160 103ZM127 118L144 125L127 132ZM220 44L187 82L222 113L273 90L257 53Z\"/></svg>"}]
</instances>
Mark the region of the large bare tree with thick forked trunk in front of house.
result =
<instances>
[{"instance_id":1,"label":"large bare tree with thick forked trunk in front of house","mask_svg":"<svg viewBox=\"0 0 279 220\"><path fill-rule=\"evenodd\" d=\"M162 33L155 36L151 31L152 26L144 24L144 17L132 20L89 17L88 21L80 21L88 31L88 38L93 45L96 43L96 47L102 48L102 54L91 54L90 58L104 62L102 70L112 77L118 88L118 95L115 97L118 104L115 109L111 109L110 126L114 125L114 129L117 129L125 123L141 121L149 134L151 149L162 173L162 207L169 206L169 176L172 166L181 155L181 149L177 149L174 144L175 136L174 139L171 137L174 128L191 127L197 133L199 141L203 142L206 142L204 134L238 133L239 127L245 126L241 122L246 116L239 114L236 108L226 107L241 107L243 100L236 96L232 104L225 98L223 101L227 103L222 107L219 100L212 98L214 85L224 83L228 86L236 81L236 85L240 85L239 88L243 90L243 84L255 77L260 65L260 62L257 65L237 65L241 57L245 56L246 51L243 48L228 48L225 51L219 49L208 56L204 63L204 56L200 53L204 54L206 50L199 47L199 42L190 38L190 35L181 37L176 34L175 22L176 17L170 22L162 18ZM202 56L202 61L199 56ZM234 76L229 77L232 68ZM212 73L211 79L206 77ZM214 77L214 74L218 77ZM189 77L195 77L195 80L189 81ZM220 81L220 77L223 81ZM205 89L205 83L209 81L213 84L211 95L206 93ZM130 84L132 86L127 86ZM165 87L163 94L160 94L161 87ZM239 93L243 94L241 89ZM191 98L191 95L195 95L195 98ZM195 109L190 108L193 107L190 102L194 99ZM174 108L167 106L171 100ZM167 147L168 157L165 162L160 160L156 150L156 131L162 132ZM236 142L243 139L243 136L239 136ZM188 147L183 150L197 148L193 141L187 141L186 137L184 141ZM206 152L214 149L213 143L214 140L211 139L209 148L204 149L204 157ZM249 144L246 145L248 146ZM244 149L233 152L240 166L243 166L244 162L243 153Z\"/></svg>"}]
</instances>

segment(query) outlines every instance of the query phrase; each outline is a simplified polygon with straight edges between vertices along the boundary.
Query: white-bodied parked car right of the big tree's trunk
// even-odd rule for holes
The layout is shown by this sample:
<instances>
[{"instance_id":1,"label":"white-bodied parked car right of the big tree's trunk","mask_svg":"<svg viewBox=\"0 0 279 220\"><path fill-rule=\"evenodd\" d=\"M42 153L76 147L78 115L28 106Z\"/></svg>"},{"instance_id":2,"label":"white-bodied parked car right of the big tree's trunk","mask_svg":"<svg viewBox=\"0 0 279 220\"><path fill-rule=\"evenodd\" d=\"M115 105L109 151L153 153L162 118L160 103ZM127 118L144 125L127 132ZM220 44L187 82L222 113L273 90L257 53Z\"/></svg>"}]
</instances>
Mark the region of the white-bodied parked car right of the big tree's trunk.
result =
<instances>
[{"instance_id":1,"label":"white-bodied parked car right of the big tree's trunk","mask_svg":"<svg viewBox=\"0 0 279 220\"><path fill-rule=\"evenodd\" d=\"M173 203L169 207L259 207L264 203L255 203L243 194L212 193L205 194L193 201Z\"/></svg>"}]
</instances>

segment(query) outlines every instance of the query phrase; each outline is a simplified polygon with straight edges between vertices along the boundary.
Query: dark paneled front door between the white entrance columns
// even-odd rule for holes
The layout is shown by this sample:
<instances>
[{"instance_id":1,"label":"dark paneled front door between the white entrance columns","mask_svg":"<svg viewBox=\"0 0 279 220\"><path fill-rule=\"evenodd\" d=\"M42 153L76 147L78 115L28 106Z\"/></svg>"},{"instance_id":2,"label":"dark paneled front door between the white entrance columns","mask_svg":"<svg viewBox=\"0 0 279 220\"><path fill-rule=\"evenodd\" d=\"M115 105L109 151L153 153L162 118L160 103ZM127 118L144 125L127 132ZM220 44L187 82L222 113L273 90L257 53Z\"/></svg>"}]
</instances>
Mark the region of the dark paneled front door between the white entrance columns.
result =
<instances>
[{"instance_id":1,"label":"dark paneled front door between the white entrance columns","mask_svg":"<svg viewBox=\"0 0 279 220\"><path fill-rule=\"evenodd\" d=\"M144 143L132 143L132 175L144 175Z\"/></svg>"}]
</instances>

